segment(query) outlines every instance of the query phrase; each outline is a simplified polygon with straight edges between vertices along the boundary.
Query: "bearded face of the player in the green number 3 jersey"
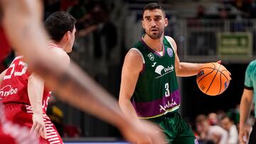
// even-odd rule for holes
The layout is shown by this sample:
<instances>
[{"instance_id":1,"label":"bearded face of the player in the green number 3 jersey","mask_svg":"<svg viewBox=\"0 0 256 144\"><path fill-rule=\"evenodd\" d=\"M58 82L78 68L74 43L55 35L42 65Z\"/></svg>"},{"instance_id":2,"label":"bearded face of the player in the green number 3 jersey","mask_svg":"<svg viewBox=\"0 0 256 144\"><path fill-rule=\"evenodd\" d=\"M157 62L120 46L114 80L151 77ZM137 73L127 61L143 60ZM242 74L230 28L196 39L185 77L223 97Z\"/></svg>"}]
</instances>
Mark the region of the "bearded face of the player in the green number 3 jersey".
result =
<instances>
[{"instance_id":1,"label":"bearded face of the player in the green number 3 jersey","mask_svg":"<svg viewBox=\"0 0 256 144\"><path fill-rule=\"evenodd\" d=\"M152 39L159 39L167 26L167 18L164 17L164 13L160 9L146 10L144 11L142 26L146 35Z\"/></svg>"}]
</instances>

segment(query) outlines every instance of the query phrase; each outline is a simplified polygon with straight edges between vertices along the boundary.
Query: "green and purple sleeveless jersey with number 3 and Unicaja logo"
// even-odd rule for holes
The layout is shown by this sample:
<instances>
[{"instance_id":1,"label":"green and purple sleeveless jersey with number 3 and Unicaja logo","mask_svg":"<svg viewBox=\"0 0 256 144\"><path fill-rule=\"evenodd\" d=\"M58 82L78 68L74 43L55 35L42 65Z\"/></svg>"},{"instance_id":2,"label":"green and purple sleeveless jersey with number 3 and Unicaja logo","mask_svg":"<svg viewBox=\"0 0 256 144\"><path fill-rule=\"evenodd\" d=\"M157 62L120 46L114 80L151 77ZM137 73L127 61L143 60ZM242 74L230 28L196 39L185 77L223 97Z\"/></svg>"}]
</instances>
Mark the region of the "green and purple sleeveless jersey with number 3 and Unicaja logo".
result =
<instances>
[{"instance_id":1,"label":"green and purple sleeveless jersey with number 3 and Unicaja logo","mask_svg":"<svg viewBox=\"0 0 256 144\"><path fill-rule=\"evenodd\" d=\"M171 43L164 37L163 55L149 48L143 40L133 49L142 56L144 64L132 95L139 118L154 118L176 111L180 106L180 94Z\"/></svg>"}]
</instances>

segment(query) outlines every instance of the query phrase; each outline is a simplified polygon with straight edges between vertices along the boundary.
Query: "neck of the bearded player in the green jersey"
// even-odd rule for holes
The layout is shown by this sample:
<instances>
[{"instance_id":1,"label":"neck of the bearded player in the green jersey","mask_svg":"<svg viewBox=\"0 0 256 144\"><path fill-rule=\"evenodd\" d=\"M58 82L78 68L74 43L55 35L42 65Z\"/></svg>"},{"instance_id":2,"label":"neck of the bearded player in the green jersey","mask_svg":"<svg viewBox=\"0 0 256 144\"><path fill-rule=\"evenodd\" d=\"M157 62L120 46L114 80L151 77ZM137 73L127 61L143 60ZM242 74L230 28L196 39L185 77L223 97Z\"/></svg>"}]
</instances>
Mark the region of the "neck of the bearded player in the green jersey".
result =
<instances>
[{"instance_id":1,"label":"neck of the bearded player in the green jersey","mask_svg":"<svg viewBox=\"0 0 256 144\"><path fill-rule=\"evenodd\" d=\"M162 35L159 39L152 39L149 37L149 35L144 35L142 40L144 40L146 45L148 45L151 49L156 50L157 52L162 51L164 35Z\"/></svg>"}]
</instances>

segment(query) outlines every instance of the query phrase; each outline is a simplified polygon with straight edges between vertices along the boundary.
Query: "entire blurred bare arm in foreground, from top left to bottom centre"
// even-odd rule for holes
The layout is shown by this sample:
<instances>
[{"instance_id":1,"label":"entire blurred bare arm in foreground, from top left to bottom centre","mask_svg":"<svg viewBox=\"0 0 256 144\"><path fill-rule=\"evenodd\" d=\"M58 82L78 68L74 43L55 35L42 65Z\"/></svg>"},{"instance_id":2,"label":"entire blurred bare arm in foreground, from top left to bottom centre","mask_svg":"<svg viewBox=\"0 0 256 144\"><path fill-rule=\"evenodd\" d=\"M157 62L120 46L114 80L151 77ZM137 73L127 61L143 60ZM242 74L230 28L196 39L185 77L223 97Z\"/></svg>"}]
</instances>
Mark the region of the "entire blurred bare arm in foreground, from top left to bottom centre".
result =
<instances>
[{"instance_id":1,"label":"entire blurred bare arm in foreground, from top left to bottom centre","mask_svg":"<svg viewBox=\"0 0 256 144\"><path fill-rule=\"evenodd\" d=\"M46 49L48 35L41 24L41 2L0 0L6 36L13 48L25 56L29 67L58 92L60 99L116 126L129 142L151 139L153 143L162 143L163 134L156 133L159 129L154 124L142 121L142 125L137 125L130 121L117 101L73 62L67 70L61 70L60 57Z\"/></svg>"}]
</instances>

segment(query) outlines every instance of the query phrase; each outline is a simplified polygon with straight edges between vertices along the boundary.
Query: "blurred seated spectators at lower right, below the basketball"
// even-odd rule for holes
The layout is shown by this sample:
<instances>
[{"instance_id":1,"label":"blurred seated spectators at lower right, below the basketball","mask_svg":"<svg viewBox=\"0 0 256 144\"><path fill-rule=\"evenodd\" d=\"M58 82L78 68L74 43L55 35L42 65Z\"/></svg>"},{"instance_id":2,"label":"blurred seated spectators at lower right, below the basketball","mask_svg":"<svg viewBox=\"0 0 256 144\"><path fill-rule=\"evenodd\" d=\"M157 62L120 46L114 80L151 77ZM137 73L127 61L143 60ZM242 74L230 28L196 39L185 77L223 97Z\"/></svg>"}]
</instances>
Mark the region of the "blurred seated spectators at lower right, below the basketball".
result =
<instances>
[{"instance_id":1,"label":"blurred seated spectators at lower right, below the basketball","mask_svg":"<svg viewBox=\"0 0 256 144\"><path fill-rule=\"evenodd\" d=\"M247 121L248 131L252 131L255 123L254 109L250 113ZM216 111L208 114L196 116L195 123L191 126L201 144L227 143L238 144L239 132L239 105L235 109L228 111Z\"/></svg>"}]
</instances>

